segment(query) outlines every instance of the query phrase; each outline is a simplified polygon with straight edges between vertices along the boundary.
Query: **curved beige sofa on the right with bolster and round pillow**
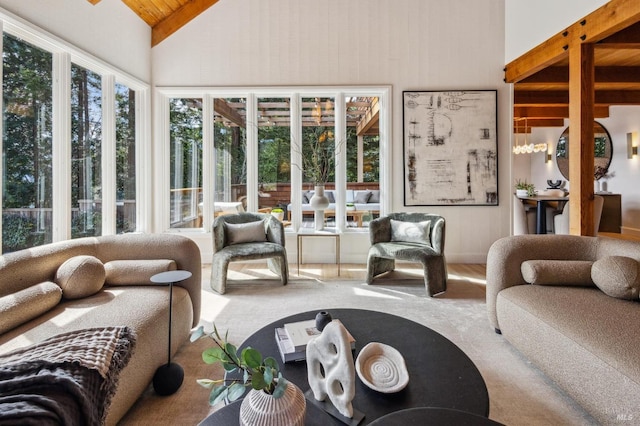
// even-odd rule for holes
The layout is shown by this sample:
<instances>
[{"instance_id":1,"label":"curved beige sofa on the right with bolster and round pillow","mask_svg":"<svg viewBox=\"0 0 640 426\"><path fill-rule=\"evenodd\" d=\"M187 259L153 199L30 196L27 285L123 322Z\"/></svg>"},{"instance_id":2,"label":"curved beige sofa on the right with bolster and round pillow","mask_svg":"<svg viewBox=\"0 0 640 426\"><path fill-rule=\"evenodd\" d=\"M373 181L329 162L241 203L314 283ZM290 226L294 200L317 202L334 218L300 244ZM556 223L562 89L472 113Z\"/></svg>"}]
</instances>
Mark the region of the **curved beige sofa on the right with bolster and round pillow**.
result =
<instances>
[{"instance_id":1,"label":"curved beige sofa on the right with bolster and round pillow","mask_svg":"<svg viewBox=\"0 0 640 426\"><path fill-rule=\"evenodd\" d=\"M601 424L640 421L638 261L639 242L573 235L488 253L491 325Z\"/></svg>"}]
</instances>

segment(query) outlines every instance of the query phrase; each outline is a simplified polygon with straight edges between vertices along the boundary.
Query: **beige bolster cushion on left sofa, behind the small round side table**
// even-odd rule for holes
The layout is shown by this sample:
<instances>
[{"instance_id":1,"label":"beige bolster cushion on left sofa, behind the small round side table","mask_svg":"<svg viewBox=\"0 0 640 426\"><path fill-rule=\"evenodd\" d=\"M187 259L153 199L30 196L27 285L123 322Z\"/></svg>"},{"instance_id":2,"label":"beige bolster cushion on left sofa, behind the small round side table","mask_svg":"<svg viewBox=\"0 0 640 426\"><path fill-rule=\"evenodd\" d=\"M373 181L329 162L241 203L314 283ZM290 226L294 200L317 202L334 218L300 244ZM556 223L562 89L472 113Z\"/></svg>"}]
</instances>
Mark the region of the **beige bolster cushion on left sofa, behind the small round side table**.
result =
<instances>
[{"instance_id":1,"label":"beige bolster cushion on left sofa, behind the small round side table","mask_svg":"<svg viewBox=\"0 0 640 426\"><path fill-rule=\"evenodd\" d=\"M176 262L171 259L112 260L104 264L105 284L151 284L153 275L176 269Z\"/></svg>"}]
</instances>

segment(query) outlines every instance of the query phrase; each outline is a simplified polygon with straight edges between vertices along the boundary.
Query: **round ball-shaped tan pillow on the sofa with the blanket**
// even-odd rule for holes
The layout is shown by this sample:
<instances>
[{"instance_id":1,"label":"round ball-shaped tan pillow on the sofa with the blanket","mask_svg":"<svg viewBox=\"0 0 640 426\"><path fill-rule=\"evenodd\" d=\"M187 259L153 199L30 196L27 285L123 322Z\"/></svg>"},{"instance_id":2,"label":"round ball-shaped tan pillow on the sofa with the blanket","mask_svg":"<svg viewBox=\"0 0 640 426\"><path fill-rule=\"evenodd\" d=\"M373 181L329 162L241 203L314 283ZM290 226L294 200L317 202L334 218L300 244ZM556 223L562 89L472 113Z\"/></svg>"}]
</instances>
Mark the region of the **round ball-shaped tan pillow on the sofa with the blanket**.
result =
<instances>
[{"instance_id":1,"label":"round ball-shaped tan pillow on the sofa with the blanket","mask_svg":"<svg viewBox=\"0 0 640 426\"><path fill-rule=\"evenodd\" d=\"M105 271L100 259L93 256L75 256L58 268L55 282L65 299L81 299L100 291Z\"/></svg>"}]
</instances>

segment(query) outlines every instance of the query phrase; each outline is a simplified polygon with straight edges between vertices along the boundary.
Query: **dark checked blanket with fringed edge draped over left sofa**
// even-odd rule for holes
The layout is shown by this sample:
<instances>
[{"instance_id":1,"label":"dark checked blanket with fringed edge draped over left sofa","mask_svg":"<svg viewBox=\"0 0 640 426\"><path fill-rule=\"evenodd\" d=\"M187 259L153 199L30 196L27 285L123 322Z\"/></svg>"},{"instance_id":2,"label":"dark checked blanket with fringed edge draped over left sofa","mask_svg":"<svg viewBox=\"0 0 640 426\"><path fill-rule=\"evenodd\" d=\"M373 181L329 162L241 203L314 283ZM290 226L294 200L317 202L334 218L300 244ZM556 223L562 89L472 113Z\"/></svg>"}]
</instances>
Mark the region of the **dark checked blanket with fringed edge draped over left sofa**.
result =
<instances>
[{"instance_id":1,"label":"dark checked blanket with fringed edge draped over left sofa","mask_svg":"<svg viewBox=\"0 0 640 426\"><path fill-rule=\"evenodd\" d=\"M92 328L0 355L0 424L104 423L135 341L128 327Z\"/></svg>"}]
</instances>

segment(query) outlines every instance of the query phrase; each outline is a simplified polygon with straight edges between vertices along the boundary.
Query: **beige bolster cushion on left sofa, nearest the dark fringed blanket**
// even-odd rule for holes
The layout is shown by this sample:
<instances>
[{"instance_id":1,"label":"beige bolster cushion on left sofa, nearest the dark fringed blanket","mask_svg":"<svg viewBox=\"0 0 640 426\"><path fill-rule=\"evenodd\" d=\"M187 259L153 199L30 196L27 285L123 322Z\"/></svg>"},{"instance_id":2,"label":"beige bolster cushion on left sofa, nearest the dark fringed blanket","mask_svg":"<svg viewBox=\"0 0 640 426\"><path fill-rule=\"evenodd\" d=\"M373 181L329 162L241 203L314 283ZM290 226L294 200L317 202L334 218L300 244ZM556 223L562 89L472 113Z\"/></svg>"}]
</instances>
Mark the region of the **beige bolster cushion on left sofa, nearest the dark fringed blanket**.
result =
<instances>
[{"instance_id":1,"label":"beige bolster cushion on left sofa, nearest the dark fringed blanket","mask_svg":"<svg viewBox=\"0 0 640 426\"><path fill-rule=\"evenodd\" d=\"M51 281L0 297L0 334L37 318L60 303L62 289Z\"/></svg>"}]
</instances>

